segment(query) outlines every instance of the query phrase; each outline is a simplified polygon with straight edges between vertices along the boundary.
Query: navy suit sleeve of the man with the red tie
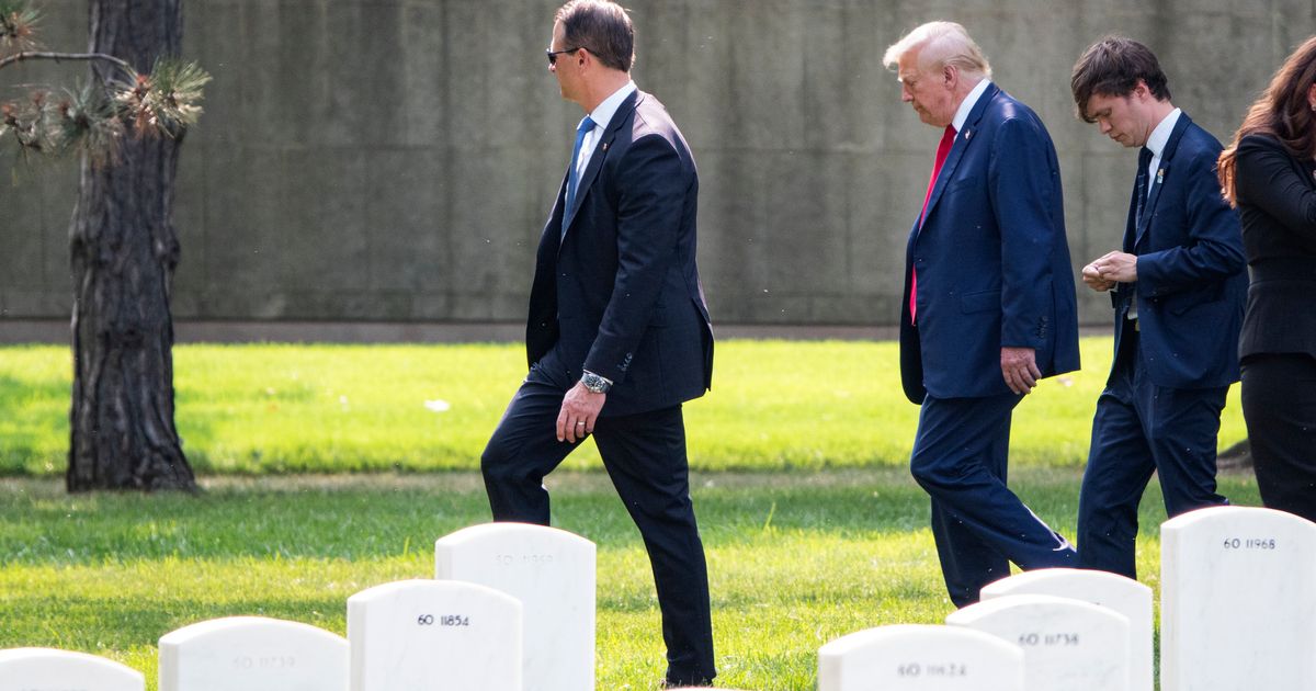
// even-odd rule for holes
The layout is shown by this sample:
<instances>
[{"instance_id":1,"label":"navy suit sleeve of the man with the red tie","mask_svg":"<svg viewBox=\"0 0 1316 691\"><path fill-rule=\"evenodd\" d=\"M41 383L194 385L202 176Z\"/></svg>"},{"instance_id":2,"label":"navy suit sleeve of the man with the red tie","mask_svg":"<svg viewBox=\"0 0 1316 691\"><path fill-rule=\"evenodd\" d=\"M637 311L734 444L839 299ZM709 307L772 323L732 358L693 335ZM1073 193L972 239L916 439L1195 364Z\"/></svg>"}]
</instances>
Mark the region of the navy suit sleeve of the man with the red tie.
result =
<instances>
[{"instance_id":1,"label":"navy suit sleeve of the man with the red tie","mask_svg":"<svg viewBox=\"0 0 1316 691\"><path fill-rule=\"evenodd\" d=\"M1051 220L1059 171L1046 136L1028 120L1005 120L987 175L1001 242L1000 345L1041 349L1053 311L1051 253L1063 232Z\"/></svg>"}]
</instances>

